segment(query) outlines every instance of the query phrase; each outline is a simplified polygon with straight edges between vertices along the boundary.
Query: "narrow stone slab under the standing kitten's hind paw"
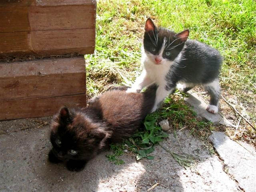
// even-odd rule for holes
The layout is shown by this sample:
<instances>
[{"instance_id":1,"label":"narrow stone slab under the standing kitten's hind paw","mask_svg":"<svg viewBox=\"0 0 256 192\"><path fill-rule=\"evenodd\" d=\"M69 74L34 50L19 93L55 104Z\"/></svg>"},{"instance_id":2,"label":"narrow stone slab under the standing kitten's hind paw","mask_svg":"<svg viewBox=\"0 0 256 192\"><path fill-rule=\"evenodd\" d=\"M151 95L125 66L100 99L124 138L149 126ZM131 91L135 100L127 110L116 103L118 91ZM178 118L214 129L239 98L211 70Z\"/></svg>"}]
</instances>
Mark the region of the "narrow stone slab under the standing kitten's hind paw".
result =
<instances>
[{"instance_id":1,"label":"narrow stone slab under the standing kitten's hind paw","mask_svg":"<svg viewBox=\"0 0 256 192\"><path fill-rule=\"evenodd\" d=\"M189 97L184 98L184 101L191 106L193 106L193 110L196 112L197 117L201 119L206 119L211 121L214 125L226 125L231 127L236 127L230 121L228 121L225 117L222 117L219 113L212 114L206 110L207 104L204 102L203 98L200 97L193 90L188 91Z\"/></svg>"}]
</instances>

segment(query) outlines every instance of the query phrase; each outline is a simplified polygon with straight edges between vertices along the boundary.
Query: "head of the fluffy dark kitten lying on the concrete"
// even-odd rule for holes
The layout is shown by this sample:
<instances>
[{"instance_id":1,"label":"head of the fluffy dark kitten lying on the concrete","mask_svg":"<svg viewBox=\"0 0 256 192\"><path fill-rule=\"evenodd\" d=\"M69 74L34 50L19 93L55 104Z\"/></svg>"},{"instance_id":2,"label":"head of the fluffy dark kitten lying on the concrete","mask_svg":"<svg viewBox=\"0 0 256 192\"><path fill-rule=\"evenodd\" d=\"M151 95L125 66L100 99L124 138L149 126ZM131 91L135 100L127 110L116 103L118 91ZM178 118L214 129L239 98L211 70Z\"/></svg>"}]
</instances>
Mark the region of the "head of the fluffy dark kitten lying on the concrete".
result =
<instances>
[{"instance_id":1,"label":"head of the fluffy dark kitten lying on the concrete","mask_svg":"<svg viewBox=\"0 0 256 192\"><path fill-rule=\"evenodd\" d=\"M105 136L96 132L97 126L81 113L62 109L51 125L52 153L62 161L89 160Z\"/></svg>"}]
</instances>

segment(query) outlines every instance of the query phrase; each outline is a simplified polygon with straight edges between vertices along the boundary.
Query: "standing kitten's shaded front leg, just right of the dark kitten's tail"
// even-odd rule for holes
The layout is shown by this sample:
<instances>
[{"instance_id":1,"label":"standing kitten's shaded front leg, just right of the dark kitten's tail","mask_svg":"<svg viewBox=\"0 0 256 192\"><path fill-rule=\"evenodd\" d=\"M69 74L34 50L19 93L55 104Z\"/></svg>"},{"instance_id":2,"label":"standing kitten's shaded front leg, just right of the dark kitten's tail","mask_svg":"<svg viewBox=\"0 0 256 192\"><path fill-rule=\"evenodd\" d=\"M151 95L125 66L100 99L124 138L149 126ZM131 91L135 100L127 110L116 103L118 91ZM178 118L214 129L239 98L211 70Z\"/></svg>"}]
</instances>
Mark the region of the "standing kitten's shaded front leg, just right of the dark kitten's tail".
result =
<instances>
[{"instance_id":1,"label":"standing kitten's shaded front leg, just right of the dark kitten's tail","mask_svg":"<svg viewBox=\"0 0 256 192\"><path fill-rule=\"evenodd\" d=\"M169 94L173 93L175 90L175 86L169 87L168 89L166 86L159 86L156 90L156 99L154 107L152 108L151 112L155 112L158 107L160 106L161 102L168 96Z\"/></svg>"}]
</instances>

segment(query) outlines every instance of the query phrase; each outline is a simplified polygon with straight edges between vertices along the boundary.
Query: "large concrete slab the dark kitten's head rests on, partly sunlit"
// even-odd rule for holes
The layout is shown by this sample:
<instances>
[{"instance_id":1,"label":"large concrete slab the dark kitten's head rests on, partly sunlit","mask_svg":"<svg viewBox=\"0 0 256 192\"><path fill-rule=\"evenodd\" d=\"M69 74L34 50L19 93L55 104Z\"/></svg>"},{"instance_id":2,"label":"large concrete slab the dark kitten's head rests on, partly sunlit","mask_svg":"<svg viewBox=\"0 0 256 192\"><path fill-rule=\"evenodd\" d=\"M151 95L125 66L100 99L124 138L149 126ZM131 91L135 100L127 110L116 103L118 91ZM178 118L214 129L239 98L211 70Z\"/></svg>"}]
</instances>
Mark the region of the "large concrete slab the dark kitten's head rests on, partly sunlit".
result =
<instances>
[{"instance_id":1,"label":"large concrete slab the dark kitten's head rests on, partly sunlit","mask_svg":"<svg viewBox=\"0 0 256 192\"><path fill-rule=\"evenodd\" d=\"M107 151L88 162L83 171L70 172L64 164L48 162L49 127L36 121L50 119L0 122L1 132L6 133L0 135L1 192L146 192L157 182L159 185L152 192L240 191L223 171L218 157L211 156L188 131L177 132L176 138L170 134L161 144L178 154L191 154L196 160L194 168L181 167L168 152L156 146L154 160L136 162L128 152L120 157L125 164L115 165L107 160Z\"/></svg>"}]
</instances>

